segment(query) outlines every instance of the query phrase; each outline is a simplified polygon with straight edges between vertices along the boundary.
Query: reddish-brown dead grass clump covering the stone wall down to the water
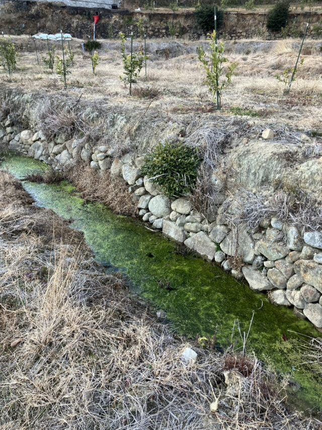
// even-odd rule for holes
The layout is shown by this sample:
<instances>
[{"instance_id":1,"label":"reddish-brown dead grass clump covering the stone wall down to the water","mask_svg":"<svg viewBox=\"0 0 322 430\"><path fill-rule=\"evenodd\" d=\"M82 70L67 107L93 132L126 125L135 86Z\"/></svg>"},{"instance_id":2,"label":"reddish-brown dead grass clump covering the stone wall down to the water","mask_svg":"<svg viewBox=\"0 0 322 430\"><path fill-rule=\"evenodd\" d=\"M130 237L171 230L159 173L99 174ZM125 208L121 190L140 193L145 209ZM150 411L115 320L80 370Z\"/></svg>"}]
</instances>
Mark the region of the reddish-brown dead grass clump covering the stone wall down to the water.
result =
<instances>
[{"instance_id":1,"label":"reddish-brown dead grass clump covering the stone wall down to the water","mask_svg":"<svg viewBox=\"0 0 322 430\"><path fill-rule=\"evenodd\" d=\"M81 192L85 200L104 203L117 214L135 215L136 206L132 202L128 186L119 176L111 176L108 170L98 172L78 161L66 172L66 178Z\"/></svg>"}]
</instances>

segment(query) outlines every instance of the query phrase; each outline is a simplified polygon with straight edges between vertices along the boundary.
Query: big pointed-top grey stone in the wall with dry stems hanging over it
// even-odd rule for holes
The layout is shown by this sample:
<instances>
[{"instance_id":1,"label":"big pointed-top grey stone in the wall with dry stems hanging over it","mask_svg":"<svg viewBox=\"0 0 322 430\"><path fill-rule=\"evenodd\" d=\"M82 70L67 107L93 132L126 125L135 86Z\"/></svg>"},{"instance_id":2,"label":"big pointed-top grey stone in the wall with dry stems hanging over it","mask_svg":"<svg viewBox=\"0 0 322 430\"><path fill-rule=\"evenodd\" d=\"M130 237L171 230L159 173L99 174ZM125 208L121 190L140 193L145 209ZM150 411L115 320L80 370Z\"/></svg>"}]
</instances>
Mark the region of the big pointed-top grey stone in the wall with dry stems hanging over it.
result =
<instances>
[{"instance_id":1,"label":"big pointed-top grey stone in the wall with dry stems hanging over it","mask_svg":"<svg viewBox=\"0 0 322 430\"><path fill-rule=\"evenodd\" d=\"M255 241L247 233L245 225L233 228L220 243L220 248L229 256L240 256L245 263L252 264L254 261Z\"/></svg>"}]
</instances>

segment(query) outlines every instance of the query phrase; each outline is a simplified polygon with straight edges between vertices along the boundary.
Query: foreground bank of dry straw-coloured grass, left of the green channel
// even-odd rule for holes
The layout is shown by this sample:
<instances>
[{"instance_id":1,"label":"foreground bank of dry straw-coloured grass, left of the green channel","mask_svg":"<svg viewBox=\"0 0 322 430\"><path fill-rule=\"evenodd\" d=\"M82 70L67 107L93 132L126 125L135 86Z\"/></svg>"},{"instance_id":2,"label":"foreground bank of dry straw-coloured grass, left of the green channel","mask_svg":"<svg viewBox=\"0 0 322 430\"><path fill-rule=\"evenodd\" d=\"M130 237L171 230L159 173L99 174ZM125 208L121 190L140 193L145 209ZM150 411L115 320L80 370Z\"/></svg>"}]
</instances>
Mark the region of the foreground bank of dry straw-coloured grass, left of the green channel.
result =
<instances>
[{"instance_id":1,"label":"foreground bank of dry straw-coloured grass, left of the green channel","mask_svg":"<svg viewBox=\"0 0 322 430\"><path fill-rule=\"evenodd\" d=\"M185 364L187 343L6 172L0 208L1 428L318 428L255 358L194 348Z\"/></svg>"}]
</instances>

